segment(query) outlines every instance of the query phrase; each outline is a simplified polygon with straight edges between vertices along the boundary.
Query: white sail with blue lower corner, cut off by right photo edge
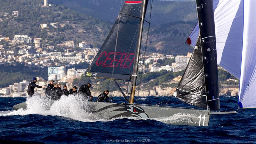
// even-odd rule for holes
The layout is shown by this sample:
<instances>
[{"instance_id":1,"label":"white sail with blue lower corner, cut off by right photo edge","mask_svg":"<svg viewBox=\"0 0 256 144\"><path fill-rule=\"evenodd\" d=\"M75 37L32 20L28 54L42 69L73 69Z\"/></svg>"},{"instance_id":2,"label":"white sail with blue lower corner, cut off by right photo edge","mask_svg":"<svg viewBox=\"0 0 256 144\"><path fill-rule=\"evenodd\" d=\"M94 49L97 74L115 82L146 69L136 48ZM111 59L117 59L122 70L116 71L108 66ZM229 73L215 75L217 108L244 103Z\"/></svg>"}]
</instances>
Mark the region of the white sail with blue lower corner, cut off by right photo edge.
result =
<instances>
[{"instance_id":1,"label":"white sail with blue lower corner, cut off by right photo edge","mask_svg":"<svg viewBox=\"0 0 256 144\"><path fill-rule=\"evenodd\" d=\"M256 108L256 1L244 1L239 107Z\"/></svg>"}]
</instances>

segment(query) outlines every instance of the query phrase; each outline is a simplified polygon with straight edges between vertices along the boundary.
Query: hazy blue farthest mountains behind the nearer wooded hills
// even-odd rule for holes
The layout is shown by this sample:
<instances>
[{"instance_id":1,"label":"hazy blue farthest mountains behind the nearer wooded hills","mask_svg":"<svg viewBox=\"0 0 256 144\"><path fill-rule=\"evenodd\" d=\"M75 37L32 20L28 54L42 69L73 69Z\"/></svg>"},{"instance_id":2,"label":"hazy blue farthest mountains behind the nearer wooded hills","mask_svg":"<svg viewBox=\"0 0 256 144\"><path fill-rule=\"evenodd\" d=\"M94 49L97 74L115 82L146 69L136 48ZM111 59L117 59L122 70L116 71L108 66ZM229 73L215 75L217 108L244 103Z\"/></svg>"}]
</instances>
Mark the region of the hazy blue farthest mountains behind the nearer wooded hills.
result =
<instances>
[{"instance_id":1,"label":"hazy blue farthest mountains behind the nearer wooded hills","mask_svg":"<svg viewBox=\"0 0 256 144\"><path fill-rule=\"evenodd\" d=\"M123 5L124 0L49 0L49 2L53 4L62 4L71 9L75 9L78 12L113 23L120 12L120 5ZM148 19L150 13L150 3L151 0L149 0L146 19ZM153 26L169 22L196 20L196 3L193 0L153 0L151 17Z\"/></svg>"}]
</instances>

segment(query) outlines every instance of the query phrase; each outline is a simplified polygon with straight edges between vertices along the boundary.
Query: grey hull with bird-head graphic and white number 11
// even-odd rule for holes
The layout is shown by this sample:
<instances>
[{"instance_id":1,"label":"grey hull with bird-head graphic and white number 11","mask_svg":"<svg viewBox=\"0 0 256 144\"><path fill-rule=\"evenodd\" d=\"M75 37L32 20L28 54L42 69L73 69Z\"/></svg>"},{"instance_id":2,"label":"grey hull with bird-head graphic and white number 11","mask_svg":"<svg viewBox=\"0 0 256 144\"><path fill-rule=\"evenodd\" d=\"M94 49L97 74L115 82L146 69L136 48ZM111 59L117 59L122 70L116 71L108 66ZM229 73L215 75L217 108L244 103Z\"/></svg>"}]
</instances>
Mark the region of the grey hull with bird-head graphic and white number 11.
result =
<instances>
[{"instance_id":1,"label":"grey hull with bird-head graphic and white number 11","mask_svg":"<svg viewBox=\"0 0 256 144\"><path fill-rule=\"evenodd\" d=\"M26 107L25 102L13 106L14 110L26 109ZM155 105L85 102L84 109L92 113L94 120L136 117L140 119L156 119L174 125L208 126L210 119L209 110Z\"/></svg>"}]
</instances>

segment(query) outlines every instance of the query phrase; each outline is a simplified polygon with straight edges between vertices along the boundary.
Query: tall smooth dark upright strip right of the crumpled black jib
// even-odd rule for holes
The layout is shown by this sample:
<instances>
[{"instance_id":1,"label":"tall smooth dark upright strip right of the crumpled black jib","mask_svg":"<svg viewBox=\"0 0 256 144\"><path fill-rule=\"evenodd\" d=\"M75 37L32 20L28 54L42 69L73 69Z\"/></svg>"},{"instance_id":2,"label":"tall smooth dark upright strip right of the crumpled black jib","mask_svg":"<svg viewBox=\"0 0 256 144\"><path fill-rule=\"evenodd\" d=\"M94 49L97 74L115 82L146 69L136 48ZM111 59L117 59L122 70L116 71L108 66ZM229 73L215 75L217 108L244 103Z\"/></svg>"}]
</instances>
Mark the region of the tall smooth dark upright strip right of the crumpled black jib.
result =
<instances>
[{"instance_id":1,"label":"tall smooth dark upright strip right of the crumpled black jib","mask_svg":"<svg viewBox=\"0 0 256 144\"><path fill-rule=\"evenodd\" d=\"M213 1L196 0L196 9L200 30L199 38L203 58L207 105L212 110L219 110L220 97Z\"/></svg>"}]
</instances>

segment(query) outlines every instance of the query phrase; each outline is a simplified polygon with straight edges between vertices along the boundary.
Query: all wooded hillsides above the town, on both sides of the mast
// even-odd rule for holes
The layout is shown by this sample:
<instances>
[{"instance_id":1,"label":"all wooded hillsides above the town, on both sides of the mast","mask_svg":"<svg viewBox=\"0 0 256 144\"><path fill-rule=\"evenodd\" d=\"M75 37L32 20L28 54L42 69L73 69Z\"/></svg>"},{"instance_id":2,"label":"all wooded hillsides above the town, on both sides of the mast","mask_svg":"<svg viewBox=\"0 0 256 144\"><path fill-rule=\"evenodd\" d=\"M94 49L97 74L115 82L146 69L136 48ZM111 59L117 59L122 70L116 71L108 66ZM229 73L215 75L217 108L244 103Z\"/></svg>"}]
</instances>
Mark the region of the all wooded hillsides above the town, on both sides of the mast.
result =
<instances>
[{"instance_id":1,"label":"all wooded hillsides above the town, on both sides of the mast","mask_svg":"<svg viewBox=\"0 0 256 144\"><path fill-rule=\"evenodd\" d=\"M117 1L115 0L78 1L77 4L77 1L72 0L51 0L50 2L56 4L52 4L51 7L44 7L42 0L0 1L0 35L9 36L11 39L13 35L39 37L42 38L44 46L53 45L55 47L57 44L68 40L73 40L76 44L87 41L100 48L120 10L120 1L116 4ZM58 4L65 4L66 6ZM191 1L153 2L152 24L147 49L149 53L166 52L186 41L196 23L196 13L192 7L193 2ZM19 15L12 16L12 11L19 11ZM9 14L4 16L5 13ZM98 16L97 13L103 15ZM113 16L115 19L112 18ZM149 6L147 20L149 19L148 16ZM111 22L104 21L106 19ZM156 23L157 21L158 23ZM52 23L57 26L51 26ZM48 24L48 28L42 29L40 24ZM148 25L145 24L144 43L147 30ZM189 51L184 45L168 54L185 55Z\"/></svg>"}]
</instances>

